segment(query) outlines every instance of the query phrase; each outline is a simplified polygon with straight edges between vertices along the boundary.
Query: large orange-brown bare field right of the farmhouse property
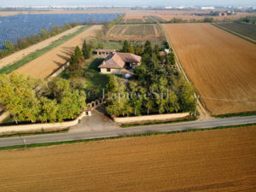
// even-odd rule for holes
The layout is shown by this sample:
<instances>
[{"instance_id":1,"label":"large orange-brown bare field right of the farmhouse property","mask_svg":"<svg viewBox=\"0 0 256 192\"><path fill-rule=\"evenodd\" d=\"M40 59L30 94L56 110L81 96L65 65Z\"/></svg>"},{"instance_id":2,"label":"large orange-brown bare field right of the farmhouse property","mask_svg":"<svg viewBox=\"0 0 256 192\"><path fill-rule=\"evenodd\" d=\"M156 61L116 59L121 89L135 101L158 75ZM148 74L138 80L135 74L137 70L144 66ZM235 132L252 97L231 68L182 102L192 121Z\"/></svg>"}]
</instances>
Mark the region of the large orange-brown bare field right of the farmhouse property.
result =
<instances>
[{"instance_id":1,"label":"large orange-brown bare field right of the farmhouse property","mask_svg":"<svg viewBox=\"0 0 256 192\"><path fill-rule=\"evenodd\" d=\"M256 110L256 45L210 24L163 25L212 114Z\"/></svg>"}]
</instances>

